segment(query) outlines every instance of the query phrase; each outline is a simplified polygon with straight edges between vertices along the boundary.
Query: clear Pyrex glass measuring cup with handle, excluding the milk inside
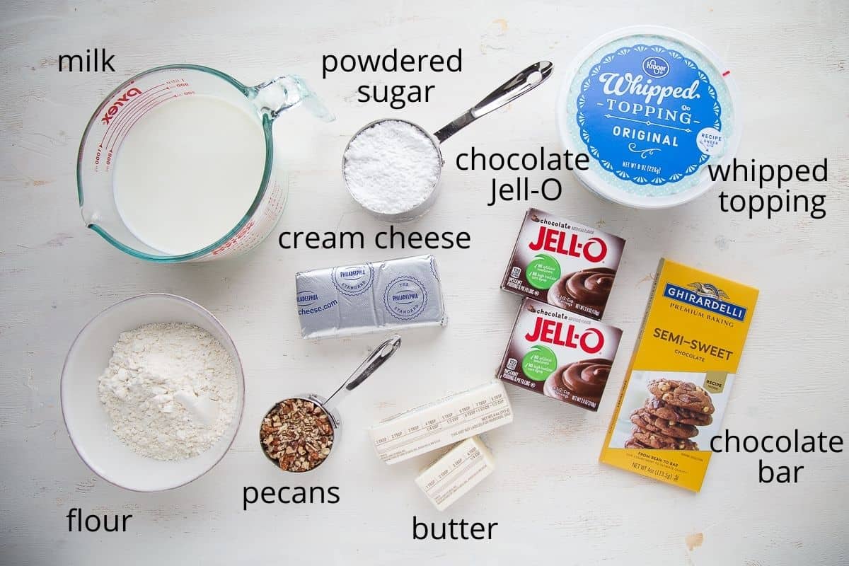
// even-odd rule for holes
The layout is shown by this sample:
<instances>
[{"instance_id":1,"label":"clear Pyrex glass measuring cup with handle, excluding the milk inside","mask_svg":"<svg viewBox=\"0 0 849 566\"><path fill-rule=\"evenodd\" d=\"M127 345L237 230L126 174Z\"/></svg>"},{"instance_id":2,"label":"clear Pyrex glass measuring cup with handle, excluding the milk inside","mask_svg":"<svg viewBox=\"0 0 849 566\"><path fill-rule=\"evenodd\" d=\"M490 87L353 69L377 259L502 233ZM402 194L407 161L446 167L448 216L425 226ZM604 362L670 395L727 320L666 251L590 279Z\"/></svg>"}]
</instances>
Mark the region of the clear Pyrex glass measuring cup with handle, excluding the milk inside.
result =
<instances>
[{"instance_id":1,"label":"clear Pyrex glass measuring cup with handle, excluding the milk inside","mask_svg":"<svg viewBox=\"0 0 849 566\"><path fill-rule=\"evenodd\" d=\"M215 242L202 249L170 255L140 240L115 205L115 155L127 133L149 110L182 97L212 96L255 116L265 137L261 183L245 215ZM104 98L88 120L76 163L77 197L86 226L121 251L163 263L207 261L238 255L271 233L286 201L286 185L275 169L273 121L287 109L304 104L313 115L334 117L298 76L278 76L249 87L219 70L194 64L171 64L145 70L124 81ZM193 210L185 210L186 216Z\"/></svg>"}]
</instances>

